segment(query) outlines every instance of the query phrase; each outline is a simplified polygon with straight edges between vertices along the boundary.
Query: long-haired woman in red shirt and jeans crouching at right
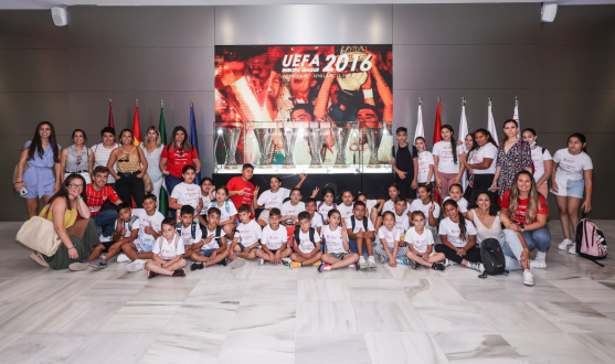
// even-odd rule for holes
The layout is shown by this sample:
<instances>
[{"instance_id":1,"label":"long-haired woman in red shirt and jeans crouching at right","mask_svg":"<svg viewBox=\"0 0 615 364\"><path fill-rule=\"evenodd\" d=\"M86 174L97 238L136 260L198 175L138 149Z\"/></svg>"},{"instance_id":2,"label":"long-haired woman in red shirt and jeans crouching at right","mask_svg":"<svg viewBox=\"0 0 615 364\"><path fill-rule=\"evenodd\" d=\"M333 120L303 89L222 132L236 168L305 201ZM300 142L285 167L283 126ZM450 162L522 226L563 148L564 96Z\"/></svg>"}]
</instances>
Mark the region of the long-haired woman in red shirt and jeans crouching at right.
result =
<instances>
[{"instance_id":1,"label":"long-haired woman in red shirt and jeans crouching at right","mask_svg":"<svg viewBox=\"0 0 615 364\"><path fill-rule=\"evenodd\" d=\"M536 260L530 261L530 268L547 268L547 248L551 244L551 232L547 225L549 210L547 200L536 188L531 172L517 173L512 186L501 196L500 206L500 220L506 227L503 236L507 244L511 247L523 246L523 238L528 250L534 247L538 249ZM520 251L517 253L520 257Z\"/></svg>"}]
</instances>

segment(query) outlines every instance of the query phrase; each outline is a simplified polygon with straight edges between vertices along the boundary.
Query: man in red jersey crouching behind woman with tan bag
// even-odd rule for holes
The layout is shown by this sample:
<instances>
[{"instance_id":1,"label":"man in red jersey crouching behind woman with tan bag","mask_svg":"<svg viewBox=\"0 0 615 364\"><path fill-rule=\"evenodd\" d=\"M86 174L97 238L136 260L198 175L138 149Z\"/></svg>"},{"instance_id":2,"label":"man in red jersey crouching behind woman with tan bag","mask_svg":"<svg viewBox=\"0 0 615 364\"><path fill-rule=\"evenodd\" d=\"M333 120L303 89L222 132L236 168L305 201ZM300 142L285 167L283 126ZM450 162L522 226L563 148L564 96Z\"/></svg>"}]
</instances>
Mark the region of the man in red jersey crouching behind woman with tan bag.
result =
<instances>
[{"instance_id":1,"label":"man in red jersey crouching behind woman with tan bag","mask_svg":"<svg viewBox=\"0 0 615 364\"><path fill-rule=\"evenodd\" d=\"M113 238L114 223L117 220L117 211L103 210L103 205L109 200L115 205L119 205L121 200L117 196L114 189L107 185L109 169L98 165L92 171L93 182L85 188L87 195L87 206L91 211L91 218L96 223L96 231L100 234L103 226L107 226L100 235L100 243L110 242Z\"/></svg>"}]
</instances>

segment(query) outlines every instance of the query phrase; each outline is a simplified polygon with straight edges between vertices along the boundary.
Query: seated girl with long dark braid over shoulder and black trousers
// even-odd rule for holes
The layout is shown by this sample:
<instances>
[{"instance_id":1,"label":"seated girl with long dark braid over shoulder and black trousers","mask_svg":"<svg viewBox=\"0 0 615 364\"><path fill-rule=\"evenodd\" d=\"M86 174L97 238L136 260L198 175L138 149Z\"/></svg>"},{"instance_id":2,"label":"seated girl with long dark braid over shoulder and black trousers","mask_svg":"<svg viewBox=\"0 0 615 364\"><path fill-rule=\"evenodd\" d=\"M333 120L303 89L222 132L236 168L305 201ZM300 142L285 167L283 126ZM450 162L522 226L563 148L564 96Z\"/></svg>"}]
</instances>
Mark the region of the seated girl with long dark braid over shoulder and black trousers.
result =
<instances>
[{"instance_id":1,"label":"seated girl with long dark braid over shoulder and black trousers","mask_svg":"<svg viewBox=\"0 0 615 364\"><path fill-rule=\"evenodd\" d=\"M444 215L448 216L439 223L439 238L442 244L435 245L436 253L442 253L446 259L444 265L460 264L466 268L483 274L485 267L480 263L480 249L476 246L476 227L464 218L454 200L446 200L443 205Z\"/></svg>"}]
</instances>

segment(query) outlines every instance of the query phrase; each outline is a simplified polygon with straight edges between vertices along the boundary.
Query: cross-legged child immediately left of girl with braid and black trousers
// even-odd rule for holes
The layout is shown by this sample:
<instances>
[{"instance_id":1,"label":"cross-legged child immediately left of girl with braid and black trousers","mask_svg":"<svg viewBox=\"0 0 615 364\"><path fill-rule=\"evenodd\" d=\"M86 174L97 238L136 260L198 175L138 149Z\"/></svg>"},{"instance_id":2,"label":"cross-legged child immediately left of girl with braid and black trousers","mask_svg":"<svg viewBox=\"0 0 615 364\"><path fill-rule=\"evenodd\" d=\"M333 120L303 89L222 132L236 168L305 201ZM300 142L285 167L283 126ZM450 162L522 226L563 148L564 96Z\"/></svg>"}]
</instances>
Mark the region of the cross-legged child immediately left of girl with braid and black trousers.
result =
<instances>
[{"instance_id":1,"label":"cross-legged child immediately left of girl with braid and black trousers","mask_svg":"<svg viewBox=\"0 0 615 364\"><path fill-rule=\"evenodd\" d=\"M434 236L425 228L425 214L422 211L415 211L411 217L414 226L409 228L404 236L404 240L410 243L410 250L405 254L406 258L412 260L413 268L416 268L418 263L434 270L444 270L444 264L438 263L444 259L444 255L438 253L437 256L434 256Z\"/></svg>"}]
</instances>

